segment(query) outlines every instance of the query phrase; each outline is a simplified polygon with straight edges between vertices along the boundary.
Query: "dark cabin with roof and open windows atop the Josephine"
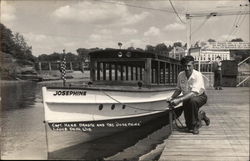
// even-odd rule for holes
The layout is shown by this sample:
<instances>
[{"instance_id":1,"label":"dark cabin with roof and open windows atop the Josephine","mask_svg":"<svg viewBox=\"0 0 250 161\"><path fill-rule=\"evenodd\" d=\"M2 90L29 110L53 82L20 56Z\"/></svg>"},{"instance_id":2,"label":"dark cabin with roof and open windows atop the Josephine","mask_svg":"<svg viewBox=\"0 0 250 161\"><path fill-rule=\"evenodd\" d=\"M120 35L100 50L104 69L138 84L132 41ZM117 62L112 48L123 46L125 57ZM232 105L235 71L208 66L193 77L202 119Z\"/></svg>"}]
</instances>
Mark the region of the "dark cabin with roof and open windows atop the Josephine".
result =
<instances>
[{"instance_id":1,"label":"dark cabin with roof and open windows atop the Josephine","mask_svg":"<svg viewBox=\"0 0 250 161\"><path fill-rule=\"evenodd\" d=\"M95 83L176 85L179 60L151 52L107 49L89 53L90 79Z\"/></svg>"}]
</instances>

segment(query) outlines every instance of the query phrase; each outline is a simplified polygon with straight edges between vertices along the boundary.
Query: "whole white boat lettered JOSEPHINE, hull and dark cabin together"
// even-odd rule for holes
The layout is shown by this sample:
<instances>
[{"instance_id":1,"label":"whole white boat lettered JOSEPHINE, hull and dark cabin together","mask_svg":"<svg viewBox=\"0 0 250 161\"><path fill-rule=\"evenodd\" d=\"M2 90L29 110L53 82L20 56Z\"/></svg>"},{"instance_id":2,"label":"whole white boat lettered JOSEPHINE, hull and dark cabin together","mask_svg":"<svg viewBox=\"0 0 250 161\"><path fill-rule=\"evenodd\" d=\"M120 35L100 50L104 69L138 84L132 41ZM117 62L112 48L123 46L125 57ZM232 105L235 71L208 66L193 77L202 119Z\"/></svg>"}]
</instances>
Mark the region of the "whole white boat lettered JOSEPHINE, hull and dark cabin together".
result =
<instances>
[{"instance_id":1,"label":"whole white boat lettered JOSEPHINE, hull and dark cabin together","mask_svg":"<svg viewBox=\"0 0 250 161\"><path fill-rule=\"evenodd\" d=\"M174 92L179 70L179 61L152 53L90 53L91 85L42 87L49 157L159 118L167 124L165 100Z\"/></svg>"}]
</instances>

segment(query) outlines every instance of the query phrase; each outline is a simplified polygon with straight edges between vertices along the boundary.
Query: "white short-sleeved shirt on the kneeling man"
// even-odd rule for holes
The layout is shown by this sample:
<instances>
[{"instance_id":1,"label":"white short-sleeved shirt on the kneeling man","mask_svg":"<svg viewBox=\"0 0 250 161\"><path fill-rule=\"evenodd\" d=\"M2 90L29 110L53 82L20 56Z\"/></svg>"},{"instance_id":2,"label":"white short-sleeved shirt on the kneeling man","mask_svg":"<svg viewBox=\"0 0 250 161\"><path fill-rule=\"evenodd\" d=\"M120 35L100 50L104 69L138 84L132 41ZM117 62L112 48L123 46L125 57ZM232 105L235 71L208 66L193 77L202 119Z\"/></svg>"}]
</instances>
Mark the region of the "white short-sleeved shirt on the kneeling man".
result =
<instances>
[{"instance_id":1,"label":"white short-sleeved shirt on the kneeling man","mask_svg":"<svg viewBox=\"0 0 250 161\"><path fill-rule=\"evenodd\" d=\"M181 90L183 94L192 91L201 95L205 91L202 74L193 69L191 76L187 79L185 71L180 72L178 75L177 88Z\"/></svg>"}]
</instances>

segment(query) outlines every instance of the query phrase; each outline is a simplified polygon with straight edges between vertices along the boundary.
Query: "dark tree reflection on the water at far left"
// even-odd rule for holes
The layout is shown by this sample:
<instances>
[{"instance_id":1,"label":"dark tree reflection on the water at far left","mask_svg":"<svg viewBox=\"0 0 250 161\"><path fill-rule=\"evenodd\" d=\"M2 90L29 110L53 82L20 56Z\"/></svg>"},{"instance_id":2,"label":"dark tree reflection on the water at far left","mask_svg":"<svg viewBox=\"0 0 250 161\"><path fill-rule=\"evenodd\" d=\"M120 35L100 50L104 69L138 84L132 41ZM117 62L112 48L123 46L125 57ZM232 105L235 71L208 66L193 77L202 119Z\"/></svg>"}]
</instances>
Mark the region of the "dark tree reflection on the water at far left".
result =
<instances>
[{"instance_id":1,"label":"dark tree reflection on the water at far left","mask_svg":"<svg viewBox=\"0 0 250 161\"><path fill-rule=\"evenodd\" d=\"M34 105L37 93L35 82L1 84L2 110L29 108Z\"/></svg>"}]
</instances>

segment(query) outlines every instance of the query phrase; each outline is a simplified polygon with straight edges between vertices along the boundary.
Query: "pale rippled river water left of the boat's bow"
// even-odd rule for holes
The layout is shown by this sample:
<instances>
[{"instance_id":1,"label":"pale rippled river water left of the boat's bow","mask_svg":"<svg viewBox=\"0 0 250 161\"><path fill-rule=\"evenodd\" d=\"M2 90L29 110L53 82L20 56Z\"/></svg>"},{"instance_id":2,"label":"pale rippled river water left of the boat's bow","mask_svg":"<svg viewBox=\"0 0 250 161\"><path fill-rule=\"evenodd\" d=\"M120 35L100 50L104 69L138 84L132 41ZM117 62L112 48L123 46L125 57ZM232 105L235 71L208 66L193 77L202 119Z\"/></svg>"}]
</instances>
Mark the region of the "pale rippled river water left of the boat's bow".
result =
<instances>
[{"instance_id":1,"label":"pale rippled river water left of the boat's bow","mask_svg":"<svg viewBox=\"0 0 250 161\"><path fill-rule=\"evenodd\" d=\"M46 159L41 91L33 82L1 86L1 159Z\"/></svg>"}]
</instances>

